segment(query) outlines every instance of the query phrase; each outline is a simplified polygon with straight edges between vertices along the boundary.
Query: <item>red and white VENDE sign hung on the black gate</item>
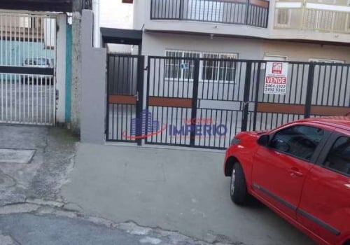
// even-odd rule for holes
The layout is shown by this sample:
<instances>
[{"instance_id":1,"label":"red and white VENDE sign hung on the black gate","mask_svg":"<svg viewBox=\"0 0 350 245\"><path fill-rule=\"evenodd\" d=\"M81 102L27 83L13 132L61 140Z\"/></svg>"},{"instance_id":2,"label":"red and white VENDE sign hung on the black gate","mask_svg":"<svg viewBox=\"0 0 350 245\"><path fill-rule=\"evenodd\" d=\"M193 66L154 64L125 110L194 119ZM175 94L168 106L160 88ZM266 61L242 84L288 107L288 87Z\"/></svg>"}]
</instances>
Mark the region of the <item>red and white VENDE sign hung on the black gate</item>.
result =
<instances>
[{"instance_id":1,"label":"red and white VENDE sign hung on the black gate","mask_svg":"<svg viewBox=\"0 0 350 245\"><path fill-rule=\"evenodd\" d=\"M286 94L288 63L266 62L264 94Z\"/></svg>"}]
</instances>

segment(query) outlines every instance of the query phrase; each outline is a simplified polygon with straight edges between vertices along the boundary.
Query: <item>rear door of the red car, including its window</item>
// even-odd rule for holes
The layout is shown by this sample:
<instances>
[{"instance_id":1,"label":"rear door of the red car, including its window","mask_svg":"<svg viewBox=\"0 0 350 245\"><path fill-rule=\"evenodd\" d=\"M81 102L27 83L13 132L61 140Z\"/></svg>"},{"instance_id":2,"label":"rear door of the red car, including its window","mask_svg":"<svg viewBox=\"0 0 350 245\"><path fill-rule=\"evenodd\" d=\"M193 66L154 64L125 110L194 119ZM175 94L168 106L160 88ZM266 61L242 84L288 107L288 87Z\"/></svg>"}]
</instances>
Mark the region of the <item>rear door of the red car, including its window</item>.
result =
<instances>
[{"instance_id":1,"label":"rear door of the red car, including its window","mask_svg":"<svg viewBox=\"0 0 350 245\"><path fill-rule=\"evenodd\" d=\"M350 236L350 132L335 132L304 183L297 220L329 244Z\"/></svg>"}]
</instances>

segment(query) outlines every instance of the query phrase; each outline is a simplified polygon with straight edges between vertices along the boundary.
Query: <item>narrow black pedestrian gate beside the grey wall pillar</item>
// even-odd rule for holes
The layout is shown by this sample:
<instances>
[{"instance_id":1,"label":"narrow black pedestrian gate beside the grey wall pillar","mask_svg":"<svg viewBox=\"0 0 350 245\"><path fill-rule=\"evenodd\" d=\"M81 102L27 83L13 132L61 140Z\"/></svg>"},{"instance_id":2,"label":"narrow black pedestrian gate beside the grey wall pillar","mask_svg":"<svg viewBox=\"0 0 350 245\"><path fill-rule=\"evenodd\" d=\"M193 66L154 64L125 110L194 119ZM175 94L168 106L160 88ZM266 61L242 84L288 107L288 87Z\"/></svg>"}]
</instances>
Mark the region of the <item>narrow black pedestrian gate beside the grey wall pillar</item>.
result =
<instances>
[{"instance_id":1,"label":"narrow black pedestrian gate beside the grey wall pillar","mask_svg":"<svg viewBox=\"0 0 350 245\"><path fill-rule=\"evenodd\" d=\"M109 54L107 67L106 140L141 144L144 57Z\"/></svg>"}]
</instances>

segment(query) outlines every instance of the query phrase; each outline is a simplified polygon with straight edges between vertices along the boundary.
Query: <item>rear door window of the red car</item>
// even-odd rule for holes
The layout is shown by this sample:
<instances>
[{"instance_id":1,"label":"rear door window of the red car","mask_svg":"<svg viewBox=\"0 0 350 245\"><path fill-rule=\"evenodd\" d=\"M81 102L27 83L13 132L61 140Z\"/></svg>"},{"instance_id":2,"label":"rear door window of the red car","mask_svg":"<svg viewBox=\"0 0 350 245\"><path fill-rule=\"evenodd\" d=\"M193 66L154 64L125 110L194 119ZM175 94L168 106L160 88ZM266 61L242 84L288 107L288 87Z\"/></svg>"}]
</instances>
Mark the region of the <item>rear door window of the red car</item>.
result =
<instances>
[{"instance_id":1,"label":"rear door window of the red car","mask_svg":"<svg viewBox=\"0 0 350 245\"><path fill-rule=\"evenodd\" d=\"M339 137L328 153L325 167L350 174L350 137Z\"/></svg>"}]
</instances>

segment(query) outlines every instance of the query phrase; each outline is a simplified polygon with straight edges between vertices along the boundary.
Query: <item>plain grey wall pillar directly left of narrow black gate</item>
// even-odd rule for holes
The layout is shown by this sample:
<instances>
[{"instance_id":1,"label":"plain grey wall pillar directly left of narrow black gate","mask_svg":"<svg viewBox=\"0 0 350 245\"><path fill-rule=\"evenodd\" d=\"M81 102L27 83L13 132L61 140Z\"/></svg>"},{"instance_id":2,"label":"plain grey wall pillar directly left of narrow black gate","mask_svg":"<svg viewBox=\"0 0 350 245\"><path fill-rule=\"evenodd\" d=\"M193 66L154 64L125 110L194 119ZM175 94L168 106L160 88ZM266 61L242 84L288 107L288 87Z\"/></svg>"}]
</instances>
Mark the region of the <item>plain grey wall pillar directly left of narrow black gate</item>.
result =
<instances>
[{"instance_id":1,"label":"plain grey wall pillar directly left of narrow black gate","mask_svg":"<svg viewBox=\"0 0 350 245\"><path fill-rule=\"evenodd\" d=\"M104 144L107 56L105 48L92 48L92 18L91 10L83 10L80 140L83 143Z\"/></svg>"}]
</instances>

